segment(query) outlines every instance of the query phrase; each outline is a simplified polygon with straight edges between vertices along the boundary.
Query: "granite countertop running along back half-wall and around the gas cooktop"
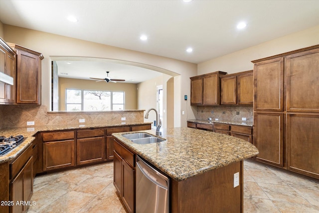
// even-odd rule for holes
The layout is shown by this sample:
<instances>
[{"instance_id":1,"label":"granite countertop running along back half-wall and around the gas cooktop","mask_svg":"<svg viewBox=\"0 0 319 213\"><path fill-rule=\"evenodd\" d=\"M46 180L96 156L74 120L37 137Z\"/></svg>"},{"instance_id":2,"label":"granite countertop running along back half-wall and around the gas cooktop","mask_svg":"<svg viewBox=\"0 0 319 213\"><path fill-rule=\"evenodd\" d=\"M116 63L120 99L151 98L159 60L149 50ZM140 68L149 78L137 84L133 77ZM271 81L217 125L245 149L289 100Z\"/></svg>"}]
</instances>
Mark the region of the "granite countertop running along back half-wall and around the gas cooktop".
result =
<instances>
[{"instance_id":1,"label":"granite countertop running along back half-wall and around the gas cooktop","mask_svg":"<svg viewBox=\"0 0 319 213\"><path fill-rule=\"evenodd\" d=\"M35 139L35 135L38 132L46 131L58 131L58 130L75 130L75 129L88 129L88 128L104 128L104 127L115 127L115 126L130 126L130 125L141 125L141 124L152 124L152 122L140 122L140 123L128 123L128 122L110 122L105 123L94 123L94 124L80 124L80 125L54 125L54 126L35 126L35 127L19 127L19 128L4 128L0 129L0 136L9 137L16 135L23 135L24 141L14 148L11 152L4 156L0 156L0 163L10 161L22 153Z\"/></svg>"}]
</instances>

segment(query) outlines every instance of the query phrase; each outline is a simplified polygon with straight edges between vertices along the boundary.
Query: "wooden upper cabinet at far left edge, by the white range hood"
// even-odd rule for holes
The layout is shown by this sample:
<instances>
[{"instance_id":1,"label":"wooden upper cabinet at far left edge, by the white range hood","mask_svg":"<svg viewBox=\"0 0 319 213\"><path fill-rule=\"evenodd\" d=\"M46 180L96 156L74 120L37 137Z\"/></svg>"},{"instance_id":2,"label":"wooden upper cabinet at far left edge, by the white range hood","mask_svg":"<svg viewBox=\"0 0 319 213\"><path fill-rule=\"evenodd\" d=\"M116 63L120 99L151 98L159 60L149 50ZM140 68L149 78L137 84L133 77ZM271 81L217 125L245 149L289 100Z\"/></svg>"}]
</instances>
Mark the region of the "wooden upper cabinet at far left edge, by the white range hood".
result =
<instances>
[{"instance_id":1,"label":"wooden upper cabinet at far left edge, by the white range hood","mask_svg":"<svg viewBox=\"0 0 319 213\"><path fill-rule=\"evenodd\" d=\"M15 103L15 52L0 38L0 72L13 78L13 85L0 82L0 103Z\"/></svg>"}]
</instances>

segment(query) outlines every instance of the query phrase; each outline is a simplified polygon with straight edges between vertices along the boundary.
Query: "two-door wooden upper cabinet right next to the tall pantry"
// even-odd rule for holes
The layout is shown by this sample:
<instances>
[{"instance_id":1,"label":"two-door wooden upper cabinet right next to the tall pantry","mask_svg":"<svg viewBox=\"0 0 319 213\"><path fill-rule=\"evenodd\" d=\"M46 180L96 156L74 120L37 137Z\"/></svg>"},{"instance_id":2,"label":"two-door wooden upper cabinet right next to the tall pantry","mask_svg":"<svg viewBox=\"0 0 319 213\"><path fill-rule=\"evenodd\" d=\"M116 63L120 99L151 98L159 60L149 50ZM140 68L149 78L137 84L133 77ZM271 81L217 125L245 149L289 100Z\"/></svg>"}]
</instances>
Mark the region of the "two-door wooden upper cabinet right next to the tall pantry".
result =
<instances>
[{"instance_id":1,"label":"two-door wooden upper cabinet right next to the tall pantry","mask_svg":"<svg viewBox=\"0 0 319 213\"><path fill-rule=\"evenodd\" d=\"M220 104L253 104L253 71L245 71L220 76Z\"/></svg>"}]
</instances>

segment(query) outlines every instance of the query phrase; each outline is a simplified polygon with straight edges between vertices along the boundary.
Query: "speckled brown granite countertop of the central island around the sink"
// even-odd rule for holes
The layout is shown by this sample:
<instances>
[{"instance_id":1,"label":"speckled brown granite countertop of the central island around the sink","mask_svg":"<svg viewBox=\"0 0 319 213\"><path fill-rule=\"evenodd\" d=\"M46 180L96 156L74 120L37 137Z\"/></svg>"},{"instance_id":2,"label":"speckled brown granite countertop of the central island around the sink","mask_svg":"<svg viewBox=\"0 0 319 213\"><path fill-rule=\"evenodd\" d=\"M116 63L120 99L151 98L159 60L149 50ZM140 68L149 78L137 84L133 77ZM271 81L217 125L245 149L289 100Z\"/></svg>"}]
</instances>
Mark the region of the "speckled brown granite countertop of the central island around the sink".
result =
<instances>
[{"instance_id":1,"label":"speckled brown granite countertop of the central island around the sink","mask_svg":"<svg viewBox=\"0 0 319 213\"><path fill-rule=\"evenodd\" d=\"M139 132L155 135L155 130ZM258 154L254 145L242 139L187 127L163 129L162 138L167 141L153 144L135 144L122 134L112 135L175 181Z\"/></svg>"}]
</instances>

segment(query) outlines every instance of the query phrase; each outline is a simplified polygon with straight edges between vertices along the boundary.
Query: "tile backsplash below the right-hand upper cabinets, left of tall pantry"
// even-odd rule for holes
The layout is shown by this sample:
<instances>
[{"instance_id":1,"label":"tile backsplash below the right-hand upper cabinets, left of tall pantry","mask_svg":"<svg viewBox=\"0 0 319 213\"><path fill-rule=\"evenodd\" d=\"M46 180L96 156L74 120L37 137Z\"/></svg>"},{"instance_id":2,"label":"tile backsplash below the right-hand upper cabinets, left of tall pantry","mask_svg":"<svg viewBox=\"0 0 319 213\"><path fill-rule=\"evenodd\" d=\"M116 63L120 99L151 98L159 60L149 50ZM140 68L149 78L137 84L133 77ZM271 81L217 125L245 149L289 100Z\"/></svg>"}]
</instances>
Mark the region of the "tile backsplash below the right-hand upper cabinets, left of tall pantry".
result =
<instances>
[{"instance_id":1,"label":"tile backsplash below the right-hand upper cabinets, left of tall pantry","mask_svg":"<svg viewBox=\"0 0 319 213\"><path fill-rule=\"evenodd\" d=\"M242 118L246 118L247 121L253 122L253 106L239 106L239 105L219 105L219 106L209 106L209 107L193 107L195 112L195 118L197 120L207 120L212 118L218 118L219 121L232 120L232 121L242 121Z\"/></svg>"}]
</instances>

